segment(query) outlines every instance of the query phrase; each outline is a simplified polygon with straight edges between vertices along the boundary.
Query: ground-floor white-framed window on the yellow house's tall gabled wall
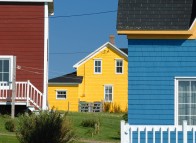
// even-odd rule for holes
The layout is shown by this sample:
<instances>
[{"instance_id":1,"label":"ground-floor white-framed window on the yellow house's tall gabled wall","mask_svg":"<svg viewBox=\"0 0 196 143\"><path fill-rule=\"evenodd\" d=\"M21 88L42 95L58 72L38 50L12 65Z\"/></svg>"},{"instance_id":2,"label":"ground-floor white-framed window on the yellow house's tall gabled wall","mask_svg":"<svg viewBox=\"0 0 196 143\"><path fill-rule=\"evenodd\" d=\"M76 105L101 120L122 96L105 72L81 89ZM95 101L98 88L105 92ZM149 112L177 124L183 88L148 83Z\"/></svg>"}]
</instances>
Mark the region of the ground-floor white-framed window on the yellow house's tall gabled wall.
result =
<instances>
[{"instance_id":1,"label":"ground-floor white-framed window on the yellow house's tall gabled wall","mask_svg":"<svg viewBox=\"0 0 196 143\"><path fill-rule=\"evenodd\" d=\"M106 102L111 102L113 98L113 87L112 85L104 86L104 100Z\"/></svg>"}]
</instances>

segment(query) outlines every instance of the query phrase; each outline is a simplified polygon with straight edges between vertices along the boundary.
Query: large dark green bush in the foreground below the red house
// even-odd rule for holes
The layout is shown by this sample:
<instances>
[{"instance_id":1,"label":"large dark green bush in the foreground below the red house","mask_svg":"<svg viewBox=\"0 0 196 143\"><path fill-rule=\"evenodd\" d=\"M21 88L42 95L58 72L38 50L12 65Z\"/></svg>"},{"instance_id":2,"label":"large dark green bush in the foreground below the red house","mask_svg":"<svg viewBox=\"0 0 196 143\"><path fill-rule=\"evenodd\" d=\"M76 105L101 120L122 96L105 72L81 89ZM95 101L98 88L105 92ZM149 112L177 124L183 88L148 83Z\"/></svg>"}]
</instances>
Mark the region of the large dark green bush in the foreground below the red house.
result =
<instances>
[{"instance_id":1,"label":"large dark green bush in the foreground below the red house","mask_svg":"<svg viewBox=\"0 0 196 143\"><path fill-rule=\"evenodd\" d=\"M57 111L20 116L16 135L21 143L68 143L76 138L66 114Z\"/></svg>"}]
</instances>

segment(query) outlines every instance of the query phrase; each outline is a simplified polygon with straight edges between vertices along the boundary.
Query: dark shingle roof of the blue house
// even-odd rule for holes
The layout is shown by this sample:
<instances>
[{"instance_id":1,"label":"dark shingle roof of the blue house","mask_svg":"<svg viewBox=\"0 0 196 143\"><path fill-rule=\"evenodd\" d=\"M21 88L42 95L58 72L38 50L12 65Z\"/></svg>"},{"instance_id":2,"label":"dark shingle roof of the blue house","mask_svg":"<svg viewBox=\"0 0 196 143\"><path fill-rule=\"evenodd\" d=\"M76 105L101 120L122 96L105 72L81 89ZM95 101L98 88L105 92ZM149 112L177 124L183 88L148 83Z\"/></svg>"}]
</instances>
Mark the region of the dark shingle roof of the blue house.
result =
<instances>
[{"instance_id":1,"label":"dark shingle roof of the blue house","mask_svg":"<svg viewBox=\"0 0 196 143\"><path fill-rule=\"evenodd\" d=\"M119 0L118 30L188 30L196 0Z\"/></svg>"}]
</instances>

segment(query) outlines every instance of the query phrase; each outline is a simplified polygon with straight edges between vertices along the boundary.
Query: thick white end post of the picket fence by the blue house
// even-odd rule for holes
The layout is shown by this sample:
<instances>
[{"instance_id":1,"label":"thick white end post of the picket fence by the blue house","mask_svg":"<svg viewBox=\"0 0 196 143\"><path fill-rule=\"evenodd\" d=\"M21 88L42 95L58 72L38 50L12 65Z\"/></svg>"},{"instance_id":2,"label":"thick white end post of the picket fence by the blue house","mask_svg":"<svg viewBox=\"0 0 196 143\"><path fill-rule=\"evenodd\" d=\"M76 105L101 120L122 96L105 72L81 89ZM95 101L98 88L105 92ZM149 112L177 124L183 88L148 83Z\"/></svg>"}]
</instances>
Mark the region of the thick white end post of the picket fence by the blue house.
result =
<instances>
[{"instance_id":1,"label":"thick white end post of the picket fence by the blue house","mask_svg":"<svg viewBox=\"0 0 196 143\"><path fill-rule=\"evenodd\" d=\"M120 122L121 126L121 143L130 143L129 141L129 126L124 120Z\"/></svg>"}]
</instances>

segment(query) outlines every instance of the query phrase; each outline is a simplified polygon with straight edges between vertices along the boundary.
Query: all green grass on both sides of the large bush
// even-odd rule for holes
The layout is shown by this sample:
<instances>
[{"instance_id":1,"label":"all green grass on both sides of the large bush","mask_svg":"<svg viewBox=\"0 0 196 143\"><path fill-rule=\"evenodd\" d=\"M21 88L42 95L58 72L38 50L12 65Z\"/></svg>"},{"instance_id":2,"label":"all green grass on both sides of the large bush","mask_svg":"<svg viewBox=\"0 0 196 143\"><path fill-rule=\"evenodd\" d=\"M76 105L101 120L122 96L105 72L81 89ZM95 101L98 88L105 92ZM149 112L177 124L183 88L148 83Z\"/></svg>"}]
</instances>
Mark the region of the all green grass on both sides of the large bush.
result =
<instances>
[{"instance_id":1,"label":"all green grass on both sides of the large bush","mask_svg":"<svg viewBox=\"0 0 196 143\"><path fill-rule=\"evenodd\" d=\"M103 141L103 142L120 142L120 120L123 114L111 113L78 113L70 112L67 118L71 121L73 129L78 136L78 140ZM100 121L99 134L93 135L93 128L82 127L81 122L87 118L96 118ZM0 116L0 143L19 143L15 133L5 129L5 122L8 117ZM78 141L77 143L83 143Z\"/></svg>"}]
</instances>

